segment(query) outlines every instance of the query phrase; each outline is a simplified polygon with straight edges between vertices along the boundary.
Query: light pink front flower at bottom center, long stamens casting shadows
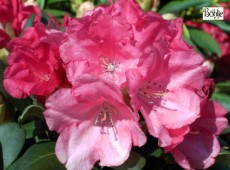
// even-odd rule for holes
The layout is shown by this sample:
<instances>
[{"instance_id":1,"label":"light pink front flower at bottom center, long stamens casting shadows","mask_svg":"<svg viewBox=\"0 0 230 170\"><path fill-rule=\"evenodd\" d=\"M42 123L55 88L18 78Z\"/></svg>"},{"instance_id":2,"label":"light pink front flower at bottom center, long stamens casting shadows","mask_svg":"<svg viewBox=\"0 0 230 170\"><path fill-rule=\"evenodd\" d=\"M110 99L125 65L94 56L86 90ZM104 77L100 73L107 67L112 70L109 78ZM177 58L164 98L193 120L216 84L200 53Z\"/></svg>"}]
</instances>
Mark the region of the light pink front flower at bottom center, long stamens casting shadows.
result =
<instances>
[{"instance_id":1,"label":"light pink front flower at bottom center, long stamens casting shadows","mask_svg":"<svg viewBox=\"0 0 230 170\"><path fill-rule=\"evenodd\" d=\"M56 91L46 107L49 128L60 133L56 155L68 170L92 169L97 161L120 165L132 145L146 142L120 89L91 75L80 76L73 89Z\"/></svg>"}]
</instances>

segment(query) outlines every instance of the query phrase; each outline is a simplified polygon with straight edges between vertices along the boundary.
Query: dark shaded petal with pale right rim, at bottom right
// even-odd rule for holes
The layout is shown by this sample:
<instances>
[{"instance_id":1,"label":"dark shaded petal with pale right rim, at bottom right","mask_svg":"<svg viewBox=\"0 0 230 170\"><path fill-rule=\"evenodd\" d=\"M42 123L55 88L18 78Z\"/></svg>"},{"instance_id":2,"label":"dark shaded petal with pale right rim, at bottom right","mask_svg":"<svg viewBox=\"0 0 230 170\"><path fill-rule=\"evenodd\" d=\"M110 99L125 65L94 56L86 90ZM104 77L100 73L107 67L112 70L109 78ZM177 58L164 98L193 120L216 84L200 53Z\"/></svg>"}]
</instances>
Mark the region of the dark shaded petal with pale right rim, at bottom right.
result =
<instances>
[{"instance_id":1,"label":"dark shaded petal with pale right rim, at bottom right","mask_svg":"<svg viewBox=\"0 0 230 170\"><path fill-rule=\"evenodd\" d=\"M172 154L185 169L206 169L214 164L220 150L217 138L207 131L188 134Z\"/></svg>"}]
</instances>

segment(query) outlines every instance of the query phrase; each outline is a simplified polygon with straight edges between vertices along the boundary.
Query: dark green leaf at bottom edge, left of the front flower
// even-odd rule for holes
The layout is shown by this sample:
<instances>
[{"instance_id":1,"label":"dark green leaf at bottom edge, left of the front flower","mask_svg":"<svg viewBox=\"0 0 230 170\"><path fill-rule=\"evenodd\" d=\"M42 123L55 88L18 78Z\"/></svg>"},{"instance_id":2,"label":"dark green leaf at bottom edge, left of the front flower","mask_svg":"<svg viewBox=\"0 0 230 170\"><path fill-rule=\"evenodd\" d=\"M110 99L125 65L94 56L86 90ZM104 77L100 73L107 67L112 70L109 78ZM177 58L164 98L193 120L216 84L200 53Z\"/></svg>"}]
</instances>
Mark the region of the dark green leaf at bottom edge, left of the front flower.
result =
<instances>
[{"instance_id":1,"label":"dark green leaf at bottom edge, left of the front flower","mask_svg":"<svg viewBox=\"0 0 230 170\"><path fill-rule=\"evenodd\" d=\"M7 170L66 170L56 158L55 142L32 145Z\"/></svg>"}]
</instances>

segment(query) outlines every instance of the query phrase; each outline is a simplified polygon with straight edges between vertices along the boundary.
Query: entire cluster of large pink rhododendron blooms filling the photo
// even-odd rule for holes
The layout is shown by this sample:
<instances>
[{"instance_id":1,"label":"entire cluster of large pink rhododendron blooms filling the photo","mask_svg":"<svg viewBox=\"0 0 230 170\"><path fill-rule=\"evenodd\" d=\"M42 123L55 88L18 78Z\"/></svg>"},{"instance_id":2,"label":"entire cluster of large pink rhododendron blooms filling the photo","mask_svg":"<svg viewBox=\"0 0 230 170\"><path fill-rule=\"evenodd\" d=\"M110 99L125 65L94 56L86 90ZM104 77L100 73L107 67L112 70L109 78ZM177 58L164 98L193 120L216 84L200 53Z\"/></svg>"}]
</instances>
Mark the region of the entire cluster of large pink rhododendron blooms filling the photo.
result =
<instances>
[{"instance_id":1,"label":"entire cluster of large pink rhododendron blooms filling the photo","mask_svg":"<svg viewBox=\"0 0 230 170\"><path fill-rule=\"evenodd\" d=\"M133 0L66 16L64 32L36 16L7 45L4 87L16 98L46 99L47 125L59 133L55 153L68 170L124 163L146 142L142 117L183 168L214 164L226 110L209 99L213 81L183 41L181 19L144 13Z\"/></svg>"}]
</instances>

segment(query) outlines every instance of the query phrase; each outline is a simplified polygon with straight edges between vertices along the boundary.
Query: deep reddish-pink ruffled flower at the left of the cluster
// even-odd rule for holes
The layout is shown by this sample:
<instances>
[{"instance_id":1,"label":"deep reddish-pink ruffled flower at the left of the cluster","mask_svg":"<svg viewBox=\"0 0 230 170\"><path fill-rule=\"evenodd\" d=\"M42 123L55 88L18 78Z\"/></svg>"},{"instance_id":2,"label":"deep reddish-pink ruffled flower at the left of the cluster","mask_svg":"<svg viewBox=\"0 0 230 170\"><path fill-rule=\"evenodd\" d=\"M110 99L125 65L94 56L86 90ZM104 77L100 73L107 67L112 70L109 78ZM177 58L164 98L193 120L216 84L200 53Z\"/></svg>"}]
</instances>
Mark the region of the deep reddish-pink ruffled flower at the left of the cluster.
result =
<instances>
[{"instance_id":1,"label":"deep reddish-pink ruffled flower at the left of the cluster","mask_svg":"<svg viewBox=\"0 0 230 170\"><path fill-rule=\"evenodd\" d=\"M48 34L43 25L37 25L9 43L3 82L9 94L16 98L47 96L63 84L64 70L58 52L61 34L57 31Z\"/></svg>"}]
</instances>

